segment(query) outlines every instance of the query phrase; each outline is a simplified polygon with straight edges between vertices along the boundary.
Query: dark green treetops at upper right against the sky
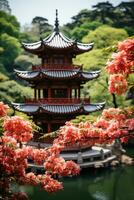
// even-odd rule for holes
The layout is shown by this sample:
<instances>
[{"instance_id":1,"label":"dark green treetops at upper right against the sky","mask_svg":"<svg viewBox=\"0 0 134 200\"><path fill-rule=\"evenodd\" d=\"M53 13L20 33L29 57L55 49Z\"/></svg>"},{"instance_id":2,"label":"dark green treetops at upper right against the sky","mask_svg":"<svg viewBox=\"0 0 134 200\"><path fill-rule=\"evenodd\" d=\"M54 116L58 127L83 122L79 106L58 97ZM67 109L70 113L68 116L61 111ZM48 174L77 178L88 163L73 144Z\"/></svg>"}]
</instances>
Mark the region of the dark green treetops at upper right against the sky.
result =
<instances>
[{"instance_id":1,"label":"dark green treetops at upper right against the sky","mask_svg":"<svg viewBox=\"0 0 134 200\"><path fill-rule=\"evenodd\" d=\"M134 2L122 2L117 6L111 3L100 2L94 5L92 9L81 10L77 15L72 17L72 22L65 25L64 29L70 32L72 37L78 36L81 40L88 31L94 30L102 24L109 25L115 28L123 28L131 36L134 34ZM80 29L82 30L80 31ZM81 33L79 35L79 33ZM83 35L82 35L83 34Z\"/></svg>"}]
</instances>

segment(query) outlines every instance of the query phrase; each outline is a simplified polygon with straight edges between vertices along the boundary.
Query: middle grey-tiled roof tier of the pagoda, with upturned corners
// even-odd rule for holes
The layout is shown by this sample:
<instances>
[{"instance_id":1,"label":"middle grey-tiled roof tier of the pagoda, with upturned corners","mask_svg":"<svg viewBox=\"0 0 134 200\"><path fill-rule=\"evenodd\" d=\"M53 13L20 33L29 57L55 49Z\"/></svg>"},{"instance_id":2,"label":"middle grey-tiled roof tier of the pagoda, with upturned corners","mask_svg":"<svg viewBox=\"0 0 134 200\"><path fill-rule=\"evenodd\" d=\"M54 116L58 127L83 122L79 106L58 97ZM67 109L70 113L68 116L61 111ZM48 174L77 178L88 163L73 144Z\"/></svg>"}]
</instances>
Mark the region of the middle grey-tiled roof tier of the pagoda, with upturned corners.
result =
<instances>
[{"instance_id":1,"label":"middle grey-tiled roof tier of the pagoda, with upturned corners","mask_svg":"<svg viewBox=\"0 0 134 200\"><path fill-rule=\"evenodd\" d=\"M59 69L41 69L39 71L19 71L14 70L16 75L24 80L37 80L37 79L75 79L92 80L97 78L100 70L97 71L82 71L80 69L74 70L59 70Z\"/></svg>"}]
</instances>

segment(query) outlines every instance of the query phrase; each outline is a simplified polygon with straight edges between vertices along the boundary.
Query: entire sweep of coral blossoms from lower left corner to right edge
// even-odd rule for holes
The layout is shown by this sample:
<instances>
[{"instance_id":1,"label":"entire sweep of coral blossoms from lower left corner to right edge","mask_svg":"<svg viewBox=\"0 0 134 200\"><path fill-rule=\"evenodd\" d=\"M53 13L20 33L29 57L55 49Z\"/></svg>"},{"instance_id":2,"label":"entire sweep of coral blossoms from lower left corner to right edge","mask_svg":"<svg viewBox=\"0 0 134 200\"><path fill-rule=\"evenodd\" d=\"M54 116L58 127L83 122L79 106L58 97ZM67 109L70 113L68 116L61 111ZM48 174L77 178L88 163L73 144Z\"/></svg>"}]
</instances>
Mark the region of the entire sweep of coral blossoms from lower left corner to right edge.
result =
<instances>
[{"instance_id":1,"label":"entire sweep of coral blossoms from lower left corner to right edge","mask_svg":"<svg viewBox=\"0 0 134 200\"><path fill-rule=\"evenodd\" d=\"M6 112L7 107L1 104ZM12 178L18 183L41 185L47 192L61 190L63 185L53 177L77 175L80 167L73 161L65 161L59 156L67 147L91 147L96 143L111 143L115 138L126 142L129 131L134 130L134 119L131 110L109 108L102 112L102 116L94 123L85 122L78 126L67 122L59 130L58 137L49 148L37 149L24 145L32 138L32 126L22 118L5 115L3 122L4 133L0 137L0 188L9 190ZM3 117L3 114L1 115ZM22 144L21 147L19 144ZM28 159L36 165L42 165L44 174L27 173ZM5 178L4 178L5 177ZM26 199L23 193L13 194L10 199ZM7 198L8 200L8 198Z\"/></svg>"}]
</instances>

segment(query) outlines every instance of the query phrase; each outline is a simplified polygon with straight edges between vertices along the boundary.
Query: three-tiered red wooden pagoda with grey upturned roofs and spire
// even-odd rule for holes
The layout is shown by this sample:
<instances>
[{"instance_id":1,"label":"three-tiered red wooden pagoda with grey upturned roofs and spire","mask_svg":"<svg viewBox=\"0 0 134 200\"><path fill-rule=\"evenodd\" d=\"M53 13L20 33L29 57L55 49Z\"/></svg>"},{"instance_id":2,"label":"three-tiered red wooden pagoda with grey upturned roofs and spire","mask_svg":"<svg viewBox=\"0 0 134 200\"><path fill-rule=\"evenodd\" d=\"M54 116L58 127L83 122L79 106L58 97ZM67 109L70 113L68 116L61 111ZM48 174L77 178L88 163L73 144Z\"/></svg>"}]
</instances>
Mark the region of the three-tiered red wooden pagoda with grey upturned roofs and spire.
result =
<instances>
[{"instance_id":1,"label":"three-tiered red wooden pagoda with grey upturned roofs and spire","mask_svg":"<svg viewBox=\"0 0 134 200\"><path fill-rule=\"evenodd\" d=\"M15 69L15 74L26 80L34 90L34 98L24 103L13 103L15 110L33 117L43 133L57 130L77 115L103 109L105 103L91 103L81 98L82 85L97 78L100 71L84 71L73 65L72 59L90 51L93 43L83 44L66 37L59 29L58 14L53 32L35 43L22 43L23 48L41 59L40 66L31 71Z\"/></svg>"}]
</instances>

